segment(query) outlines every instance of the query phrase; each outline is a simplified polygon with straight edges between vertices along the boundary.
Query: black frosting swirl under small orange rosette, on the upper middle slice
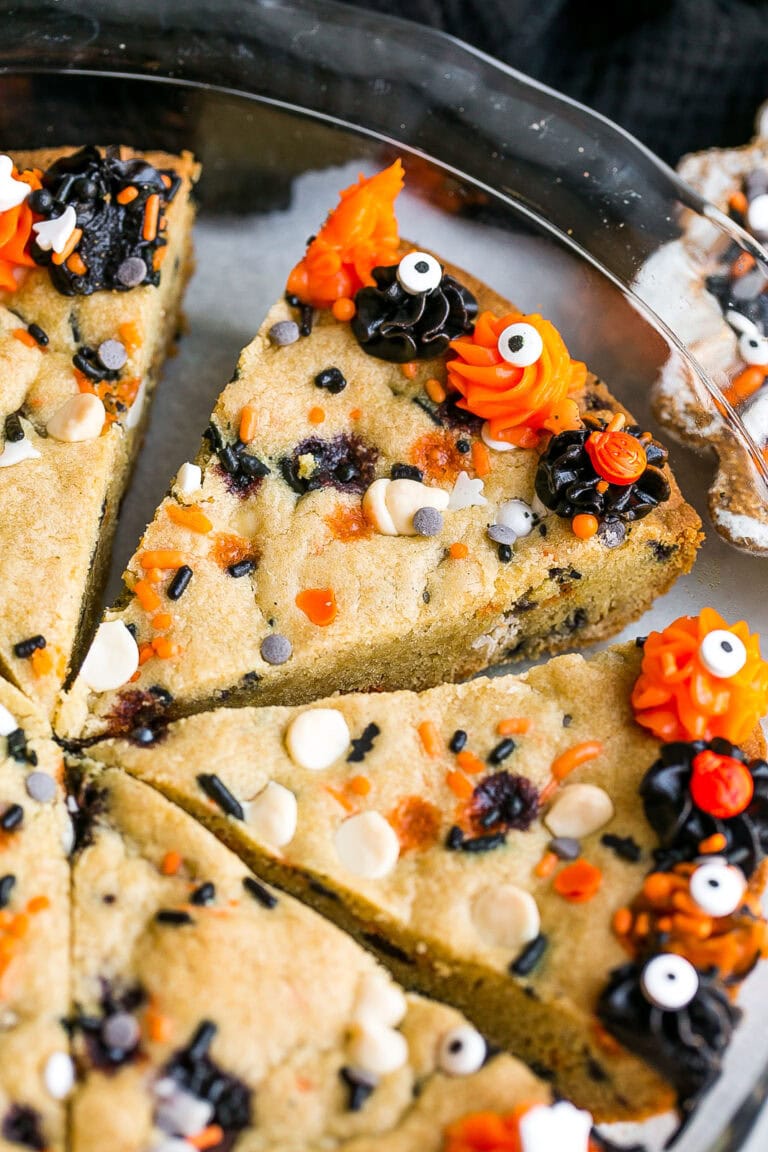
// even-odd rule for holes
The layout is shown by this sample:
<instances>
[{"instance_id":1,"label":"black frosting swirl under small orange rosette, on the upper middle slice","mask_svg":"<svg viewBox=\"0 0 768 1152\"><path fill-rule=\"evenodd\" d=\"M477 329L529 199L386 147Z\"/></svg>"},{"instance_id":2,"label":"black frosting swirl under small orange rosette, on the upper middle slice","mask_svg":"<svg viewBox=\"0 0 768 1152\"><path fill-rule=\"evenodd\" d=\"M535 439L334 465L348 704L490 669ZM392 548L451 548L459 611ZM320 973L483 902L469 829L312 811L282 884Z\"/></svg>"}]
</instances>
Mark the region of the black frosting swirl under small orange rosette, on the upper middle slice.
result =
<instances>
[{"instance_id":1,"label":"black frosting swirl under small orange rosette, on the upper middle slice","mask_svg":"<svg viewBox=\"0 0 768 1152\"><path fill-rule=\"evenodd\" d=\"M669 499L669 482L662 468L667 449L656 440L645 444L648 465L633 484L609 484L606 492L598 491L601 477L594 470L585 445L593 432L601 432L606 422L593 416L584 417L584 427L560 432L553 437L539 460L535 491L539 500L558 516L571 520L588 513L601 521L642 520ZM639 438L642 430L630 424L622 430Z\"/></svg>"}]
</instances>

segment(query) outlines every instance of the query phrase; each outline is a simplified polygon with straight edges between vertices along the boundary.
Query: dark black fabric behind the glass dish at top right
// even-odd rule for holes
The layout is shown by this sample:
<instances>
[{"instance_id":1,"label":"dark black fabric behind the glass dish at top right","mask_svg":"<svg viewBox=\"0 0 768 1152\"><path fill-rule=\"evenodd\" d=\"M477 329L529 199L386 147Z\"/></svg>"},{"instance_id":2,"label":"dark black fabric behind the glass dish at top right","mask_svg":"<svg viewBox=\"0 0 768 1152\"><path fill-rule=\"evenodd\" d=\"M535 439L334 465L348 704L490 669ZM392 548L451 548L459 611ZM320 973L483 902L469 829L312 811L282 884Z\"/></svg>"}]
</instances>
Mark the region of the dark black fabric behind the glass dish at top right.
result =
<instances>
[{"instance_id":1,"label":"dark black fabric behind the glass dish at top right","mask_svg":"<svg viewBox=\"0 0 768 1152\"><path fill-rule=\"evenodd\" d=\"M768 0L356 0L616 120L666 160L745 143L768 99Z\"/></svg>"}]
</instances>

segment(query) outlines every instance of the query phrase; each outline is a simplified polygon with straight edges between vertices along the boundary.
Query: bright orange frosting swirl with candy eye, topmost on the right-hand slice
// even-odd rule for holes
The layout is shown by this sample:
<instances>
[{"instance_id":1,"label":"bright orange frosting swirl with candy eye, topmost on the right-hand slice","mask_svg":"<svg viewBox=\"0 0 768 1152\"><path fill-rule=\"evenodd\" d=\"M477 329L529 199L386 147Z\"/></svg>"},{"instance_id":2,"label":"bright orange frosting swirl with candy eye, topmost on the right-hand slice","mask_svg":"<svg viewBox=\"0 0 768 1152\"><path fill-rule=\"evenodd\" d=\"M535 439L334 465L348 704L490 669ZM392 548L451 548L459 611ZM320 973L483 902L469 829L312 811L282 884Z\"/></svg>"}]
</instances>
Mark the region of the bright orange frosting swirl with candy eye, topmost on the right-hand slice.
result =
<instances>
[{"instance_id":1,"label":"bright orange frosting swirl with candy eye, topmost on the right-hand slice","mask_svg":"<svg viewBox=\"0 0 768 1152\"><path fill-rule=\"evenodd\" d=\"M746 664L720 680L699 659L699 645L715 629L733 632L744 644ZM768 712L768 664L760 639L746 623L727 624L714 608L680 616L662 632L651 632L642 666L632 689L634 719L657 740L713 740L740 744Z\"/></svg>"}]
</instances>

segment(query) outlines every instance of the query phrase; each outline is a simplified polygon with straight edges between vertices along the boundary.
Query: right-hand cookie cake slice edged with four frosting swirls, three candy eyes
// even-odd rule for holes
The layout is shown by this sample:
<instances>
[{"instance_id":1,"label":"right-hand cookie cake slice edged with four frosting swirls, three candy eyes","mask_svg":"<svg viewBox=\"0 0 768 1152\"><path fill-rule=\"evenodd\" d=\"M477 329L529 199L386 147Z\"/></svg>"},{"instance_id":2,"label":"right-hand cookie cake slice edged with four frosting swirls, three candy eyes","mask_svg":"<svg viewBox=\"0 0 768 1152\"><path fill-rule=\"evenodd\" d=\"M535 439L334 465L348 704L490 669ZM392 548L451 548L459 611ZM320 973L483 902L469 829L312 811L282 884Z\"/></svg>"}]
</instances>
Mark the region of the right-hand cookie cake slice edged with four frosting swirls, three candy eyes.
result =
<instances>
[{"instance_id":1,"label":"right-hand cookie cake slice edged with four frosting swirls, three candy eyes","mask_svg":"<svg viewBox=\"0 0 768 1152\"><path fill-rule=\"evenodd\" d=\"M687 1114L766 952L768 664L712 609L520 676L220 708L150 782L601 1121Z\"/></svg>"}]
</instances>

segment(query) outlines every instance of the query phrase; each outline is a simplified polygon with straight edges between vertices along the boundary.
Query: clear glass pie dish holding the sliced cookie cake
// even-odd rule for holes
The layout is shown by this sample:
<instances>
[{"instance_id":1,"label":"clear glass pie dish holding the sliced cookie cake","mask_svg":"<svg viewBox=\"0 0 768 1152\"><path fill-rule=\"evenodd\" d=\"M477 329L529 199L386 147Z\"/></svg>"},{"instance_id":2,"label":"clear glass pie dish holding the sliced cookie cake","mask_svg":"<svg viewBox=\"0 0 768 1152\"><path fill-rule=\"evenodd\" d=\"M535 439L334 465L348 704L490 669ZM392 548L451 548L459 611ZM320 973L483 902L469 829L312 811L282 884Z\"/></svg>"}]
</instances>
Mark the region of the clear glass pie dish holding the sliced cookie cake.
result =
<instances>
[{"instance_id":1,"label":"clear glass pie dish holding the sliced cookie cake","mask_svg":"<svg viewBox=\"0 0 768 1152\"><path fill-rule=\"evenodd\" d=\"M573 101L446 36L327 0L0 0L0 151L124 141L189 147L204 162L189 331L124 501L108 599L305 238L340 188L397 154L402 233L549 317L645 425L654 426L649 389L671 355L702 396L717 395L632 285L677 235L682 207L731 235L735 226ZM725 417L746 445L736 414ZM706 522L712 462L670 447ZM768 636L766 571L710 530L693 573L630 635L710 604ZM709 1152L768 1063L767 993L768 967L747 983L725 1073L679 1152ZM609 1135L656 1152L672 1127L662 1117ZM763 1116L716 1152L767 1145Z\"/></svg>"}]
</instances>

